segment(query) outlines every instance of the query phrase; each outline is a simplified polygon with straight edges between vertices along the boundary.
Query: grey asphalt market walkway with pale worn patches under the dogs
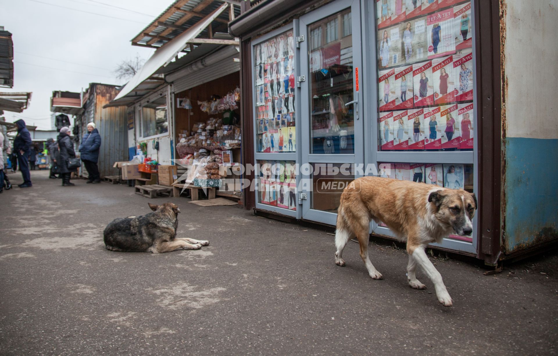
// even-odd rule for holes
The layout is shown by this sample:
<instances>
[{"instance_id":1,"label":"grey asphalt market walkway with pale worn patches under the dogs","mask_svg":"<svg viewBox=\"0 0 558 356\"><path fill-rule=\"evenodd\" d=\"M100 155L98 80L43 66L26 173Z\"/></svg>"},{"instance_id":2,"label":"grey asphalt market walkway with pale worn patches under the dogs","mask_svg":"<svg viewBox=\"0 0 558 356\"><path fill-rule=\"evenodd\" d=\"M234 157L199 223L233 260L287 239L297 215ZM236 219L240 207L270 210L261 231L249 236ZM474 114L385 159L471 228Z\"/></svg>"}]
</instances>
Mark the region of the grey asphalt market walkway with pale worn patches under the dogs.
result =
<instances>
[{"instance_id":1,"label":"grey asphalt market walkway with pale worn patches under the dogs","mask_svg":"<svg viewBox=\"0 0 558 356\"><path fill-rule=\"evenodd\" d=\"M408 287L401 249L372 245L385 278L374 281L356 243L344 254L348 266L337 267L333 237L318 230L31 174L32 188L0 195L1 354L557 352L555 254L496 276L435 261L454 300L445 308L424 273L426 291ZM104 249L108 222L167 200L182 210L180 235L210 246L157 256Z\"/></svg>"}]
</instances>

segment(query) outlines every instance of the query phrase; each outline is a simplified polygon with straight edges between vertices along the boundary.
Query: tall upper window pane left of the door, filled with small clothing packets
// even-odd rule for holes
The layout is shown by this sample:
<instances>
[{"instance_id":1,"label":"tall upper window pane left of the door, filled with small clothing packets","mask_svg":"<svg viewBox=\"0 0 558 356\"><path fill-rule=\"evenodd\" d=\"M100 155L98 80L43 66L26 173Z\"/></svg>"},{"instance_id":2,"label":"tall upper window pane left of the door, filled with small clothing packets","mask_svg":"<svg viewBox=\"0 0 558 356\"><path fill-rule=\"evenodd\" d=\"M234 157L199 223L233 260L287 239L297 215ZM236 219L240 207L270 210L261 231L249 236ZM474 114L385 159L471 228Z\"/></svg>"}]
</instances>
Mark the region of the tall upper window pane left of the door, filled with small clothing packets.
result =
<instances>
[{"instance_id":1,"label":"tall upper window pane left of the door, filled with small clothing packets","mask_svg":"<svg viewBox=\"0 0 558 356\"><path fill-rule=\"evenodd\" d=\"M292 30L254 46L256 151L296 152Z\"/></svg>"}]
</instances>

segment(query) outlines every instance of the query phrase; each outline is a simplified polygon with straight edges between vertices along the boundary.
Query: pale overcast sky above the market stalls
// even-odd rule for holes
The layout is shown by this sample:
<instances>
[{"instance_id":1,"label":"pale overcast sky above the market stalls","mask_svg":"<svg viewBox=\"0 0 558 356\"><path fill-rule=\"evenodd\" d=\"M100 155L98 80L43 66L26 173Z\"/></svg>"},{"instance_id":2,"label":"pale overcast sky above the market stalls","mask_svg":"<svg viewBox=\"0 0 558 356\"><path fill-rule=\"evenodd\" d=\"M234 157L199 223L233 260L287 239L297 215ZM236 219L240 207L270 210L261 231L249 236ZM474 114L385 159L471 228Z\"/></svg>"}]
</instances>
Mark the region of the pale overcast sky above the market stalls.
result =
<instances>
[{"instance_id":1,"label":"pale overcast sky above the market stalls","mask_svg":"<svg viewBox=\"0 0 558 356\"><path fill-rule=\"evenodd\" d=\"M22 113L4 112L6 121L22 118L50 129L53 90L80 92L89 83L124 84L112 73L117 64L136 54L147 60L153 53L132 46L130 40L172 2L0 0L0 26L12 33L15 68L13 88L0 92L33 93Z\"/></svg>"}]
</instances>

